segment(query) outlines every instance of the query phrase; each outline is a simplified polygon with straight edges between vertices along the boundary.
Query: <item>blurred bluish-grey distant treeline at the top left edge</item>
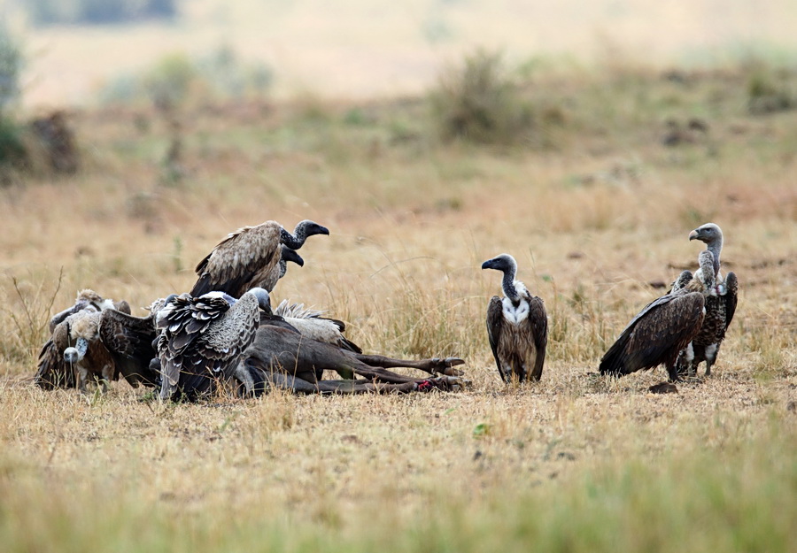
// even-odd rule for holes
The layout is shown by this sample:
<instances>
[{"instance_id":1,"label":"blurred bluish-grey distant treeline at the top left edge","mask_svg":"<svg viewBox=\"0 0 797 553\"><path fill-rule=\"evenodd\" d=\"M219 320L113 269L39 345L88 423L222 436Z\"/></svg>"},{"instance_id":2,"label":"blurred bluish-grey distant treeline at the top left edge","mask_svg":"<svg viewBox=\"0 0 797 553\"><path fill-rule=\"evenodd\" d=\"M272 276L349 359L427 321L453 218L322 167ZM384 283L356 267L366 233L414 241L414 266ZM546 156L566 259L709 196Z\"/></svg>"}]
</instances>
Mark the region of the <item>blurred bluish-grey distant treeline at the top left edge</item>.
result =
<instances>
[{"instance_id":1,"label":"blurred bluish-grey distant treeline at the top left edge","mask_svg":"<svg viewBox=\"0 0 797 553\"><path fill-rule=\"evenodd\" d=\"M175 0L27 0L25 5L35 25L104 25L177 15Z\"/></svg>"}]
</instances>

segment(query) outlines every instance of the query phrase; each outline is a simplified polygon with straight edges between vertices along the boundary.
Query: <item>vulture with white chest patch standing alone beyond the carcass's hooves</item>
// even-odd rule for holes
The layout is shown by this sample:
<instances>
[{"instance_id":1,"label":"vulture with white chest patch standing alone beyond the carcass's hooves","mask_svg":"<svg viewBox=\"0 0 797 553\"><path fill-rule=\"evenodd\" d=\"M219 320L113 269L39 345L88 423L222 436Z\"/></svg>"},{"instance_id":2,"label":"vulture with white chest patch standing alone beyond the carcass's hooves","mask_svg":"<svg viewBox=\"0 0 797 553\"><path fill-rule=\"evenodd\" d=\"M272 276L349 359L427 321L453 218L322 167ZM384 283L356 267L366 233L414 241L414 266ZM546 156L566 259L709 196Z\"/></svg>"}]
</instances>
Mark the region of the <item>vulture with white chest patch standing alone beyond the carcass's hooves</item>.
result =
<instances>
[{"instance_id":1,"label":"vulture with white chest patch standing alone beyond the carcass's hooves","mask_svg":"<svg viewBox=\"0 0 797 553\"><path fill-rule=\"evenodd\" d=\"M487 335L501 380L539 380L548 342L545 303L515 280L515 257L501 254L485 261L482 269L504 273L504 297L492 296L487 305Z\"/></svg>"}]
</instances>

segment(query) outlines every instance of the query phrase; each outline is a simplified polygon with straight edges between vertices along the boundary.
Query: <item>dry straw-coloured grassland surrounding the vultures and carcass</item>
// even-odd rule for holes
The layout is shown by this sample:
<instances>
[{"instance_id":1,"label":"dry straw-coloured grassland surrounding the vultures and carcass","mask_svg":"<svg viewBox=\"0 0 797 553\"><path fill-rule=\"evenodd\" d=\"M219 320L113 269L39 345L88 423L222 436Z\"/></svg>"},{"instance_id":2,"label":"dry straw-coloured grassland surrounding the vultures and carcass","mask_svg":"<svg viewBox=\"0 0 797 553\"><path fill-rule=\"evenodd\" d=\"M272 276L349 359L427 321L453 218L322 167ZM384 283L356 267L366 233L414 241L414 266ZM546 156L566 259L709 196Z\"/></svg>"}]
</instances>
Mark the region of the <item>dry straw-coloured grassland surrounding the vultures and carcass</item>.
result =
<instances>
[{"instance_id":1,"label":"dry straw-coloured grassland surrounding the vultures and carcass","mask_svg":"<svg viewBox=\"0 0 797 553\"><path fill-rule=\"evenodd\" d=\"M164 165L157 112L74 112L81 173L2 190L4 549L794 550L797 112L749 113L754 70L539 73L511 146L439 141L414 98L190 104ZM708 131L662 143L691 118ZM166 405L31 385L76 290L147 305L265 219L331 230L276 301L366 351L464 357L472 388ZM596 376L708 221L741 287L715 374L664 396L662 369ZM504 251L550 319L525 387L500 383L484 330L500 275L479 265Z\"/></svg>"}]
</instances>

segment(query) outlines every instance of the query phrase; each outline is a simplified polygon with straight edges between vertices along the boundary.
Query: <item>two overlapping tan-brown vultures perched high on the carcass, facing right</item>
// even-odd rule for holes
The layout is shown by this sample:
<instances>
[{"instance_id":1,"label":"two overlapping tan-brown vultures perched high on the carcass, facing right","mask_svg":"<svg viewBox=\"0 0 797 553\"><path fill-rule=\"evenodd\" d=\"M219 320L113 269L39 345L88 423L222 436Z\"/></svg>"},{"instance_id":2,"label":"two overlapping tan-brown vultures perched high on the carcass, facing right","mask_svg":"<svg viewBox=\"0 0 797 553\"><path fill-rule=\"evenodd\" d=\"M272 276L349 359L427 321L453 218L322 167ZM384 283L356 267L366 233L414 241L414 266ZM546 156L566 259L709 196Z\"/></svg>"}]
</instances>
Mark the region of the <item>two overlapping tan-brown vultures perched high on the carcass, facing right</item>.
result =
<instances>
[{"instance_id":1,"label":"two overlapping tan-brown vultures perched high on the carcass, facing right","mask_svg":"<svg viewBox=\"0 0 797 553\"><path fill-rule=\"evenodd\" d=\"M280 261L284 258L302 265L301 257L291 258L290 251L295 254L313 234L329 234L329 229L310 220L299 222L294 234L276 221L239 228L199 262L196 269L199 278L190 295L224 292L237 298L250 288L265 288L270 292L284 274L285 265ZM282 250L283 245L287 250Z\"/></svg>"}]
</instances>

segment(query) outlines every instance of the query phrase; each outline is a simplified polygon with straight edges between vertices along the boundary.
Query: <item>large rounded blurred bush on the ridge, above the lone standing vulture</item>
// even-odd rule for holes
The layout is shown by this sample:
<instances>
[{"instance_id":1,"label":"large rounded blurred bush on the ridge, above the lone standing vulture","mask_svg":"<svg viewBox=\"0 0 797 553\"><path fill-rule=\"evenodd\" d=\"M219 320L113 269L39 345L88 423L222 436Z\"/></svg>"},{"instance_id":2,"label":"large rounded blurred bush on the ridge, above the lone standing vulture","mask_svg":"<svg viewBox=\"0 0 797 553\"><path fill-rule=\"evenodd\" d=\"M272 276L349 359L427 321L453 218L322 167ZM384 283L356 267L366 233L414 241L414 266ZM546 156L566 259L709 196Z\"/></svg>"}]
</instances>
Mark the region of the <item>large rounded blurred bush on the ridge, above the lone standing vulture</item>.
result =
<instances>
[{"instance_id":1,"label":"large rounded blurred bush on the ridge, above the lone standing vulture","mask_svg":"<svg viewBox=\"0 0 797 553\"><path fill-rule=\"evenodd\" d=\"M531 106L497 53L478 51L445 71L429 99L445 139L509 143L531 131Z\"/></svg>"}]
</instances>

